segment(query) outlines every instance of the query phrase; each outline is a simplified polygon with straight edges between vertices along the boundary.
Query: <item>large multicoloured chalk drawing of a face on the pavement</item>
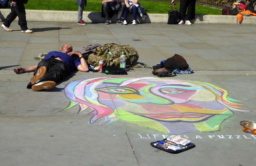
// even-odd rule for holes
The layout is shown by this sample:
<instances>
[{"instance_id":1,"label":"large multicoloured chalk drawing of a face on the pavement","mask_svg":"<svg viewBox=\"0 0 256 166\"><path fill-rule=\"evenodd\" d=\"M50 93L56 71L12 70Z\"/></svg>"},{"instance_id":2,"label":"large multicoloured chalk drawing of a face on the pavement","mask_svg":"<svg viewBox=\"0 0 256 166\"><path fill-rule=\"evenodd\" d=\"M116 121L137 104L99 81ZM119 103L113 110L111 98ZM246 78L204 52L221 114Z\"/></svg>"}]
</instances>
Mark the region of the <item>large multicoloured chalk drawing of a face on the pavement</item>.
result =
<instances>
[{"instance_id":1,"label":"large multicoloured chalk drawing of a face on the pavement","mask_svg":"<svg viewBox=\"0 0 256 166\"><path fill-rule=\"evenodd\" d=\"M170 134L216 131L232 111L245 111L226 90L200 81L98 77L72 81L64 91L70 99L64 110L90 107L92 124L122 119Z\"/></svg>"}]
</instances>

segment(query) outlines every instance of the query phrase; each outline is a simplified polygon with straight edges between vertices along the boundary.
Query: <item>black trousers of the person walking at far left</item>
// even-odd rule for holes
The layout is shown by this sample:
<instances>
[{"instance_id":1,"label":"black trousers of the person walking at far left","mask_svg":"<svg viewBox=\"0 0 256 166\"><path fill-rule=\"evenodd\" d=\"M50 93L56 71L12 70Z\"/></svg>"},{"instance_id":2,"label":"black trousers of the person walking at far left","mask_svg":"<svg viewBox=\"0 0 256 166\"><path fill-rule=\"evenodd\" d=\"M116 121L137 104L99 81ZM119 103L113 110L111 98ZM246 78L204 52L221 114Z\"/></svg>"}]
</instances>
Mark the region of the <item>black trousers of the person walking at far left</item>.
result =
<instances>
[{"instance_id":1,"label":"black trousers of the person walking at far left","mask_svg":"<svg viewBox=\"0 0 256 166\"><path fill-rule=\"evenodd\" d=\"M15 20L15 18L18 16L19 21L18 24L20 25L21 30L27 30L27 20L26 20L26 11L25 6L22 2L17 1L16 6L11 7L11 12L6 17L6 20L4 21L4 26L10 27L11 23Z\"/></svg>"}]
</instances>

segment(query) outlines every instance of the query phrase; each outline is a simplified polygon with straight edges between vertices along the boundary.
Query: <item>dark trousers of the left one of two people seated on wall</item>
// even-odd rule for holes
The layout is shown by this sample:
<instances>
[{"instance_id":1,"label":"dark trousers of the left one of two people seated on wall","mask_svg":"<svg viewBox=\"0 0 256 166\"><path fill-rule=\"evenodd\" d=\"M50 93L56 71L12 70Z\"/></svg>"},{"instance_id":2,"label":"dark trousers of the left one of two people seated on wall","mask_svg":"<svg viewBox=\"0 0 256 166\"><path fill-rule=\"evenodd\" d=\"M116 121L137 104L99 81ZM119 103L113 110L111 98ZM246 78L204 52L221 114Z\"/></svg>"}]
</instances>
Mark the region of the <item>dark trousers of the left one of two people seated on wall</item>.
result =
<instances>
[{"instance_id":1,"label":"dark trousers of the left one of two people seated on wall","mask_svg":"<svg viewBox=\"0 0 256 166\"><path fill-rule=\"evenodd\" d=\"M113 14L117 13L117 12L118 12L117 20L120 20L122 15L124 14L124 7L125 7L125 4L120 3L120 4L117 4L116 6L113 6L114 10L112 10L109 3L104 3L102 5L102 10L103 10L103 13L105 15L105 20L109 20L109 17L112 17ZM111 16L109 16L110 15L109 12L111 12Z\"/></svg>"}]
</instances>

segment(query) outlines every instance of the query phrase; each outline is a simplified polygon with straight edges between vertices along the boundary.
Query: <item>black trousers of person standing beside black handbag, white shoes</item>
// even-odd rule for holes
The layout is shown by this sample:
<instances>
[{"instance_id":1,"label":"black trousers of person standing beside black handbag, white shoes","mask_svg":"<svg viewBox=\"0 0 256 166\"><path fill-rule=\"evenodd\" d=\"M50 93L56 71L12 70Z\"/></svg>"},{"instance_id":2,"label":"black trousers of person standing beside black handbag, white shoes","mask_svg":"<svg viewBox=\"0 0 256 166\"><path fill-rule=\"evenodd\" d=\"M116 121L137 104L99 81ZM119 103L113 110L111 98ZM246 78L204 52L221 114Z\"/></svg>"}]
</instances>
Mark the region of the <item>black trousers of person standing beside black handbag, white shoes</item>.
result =
<instances>
[{"instance_id":1,"label":"black trousers of person standing beside black handbag, white shoes","mask_svg":"<svg viewBox=\"0 0 256 166\"><path fill-rule=\"evenodd\" d=\"M186 20L193 20L196 17L196 0L180 0L180 19L185 21L186 11L188 9Z\"/></svg>"}]
</instances>

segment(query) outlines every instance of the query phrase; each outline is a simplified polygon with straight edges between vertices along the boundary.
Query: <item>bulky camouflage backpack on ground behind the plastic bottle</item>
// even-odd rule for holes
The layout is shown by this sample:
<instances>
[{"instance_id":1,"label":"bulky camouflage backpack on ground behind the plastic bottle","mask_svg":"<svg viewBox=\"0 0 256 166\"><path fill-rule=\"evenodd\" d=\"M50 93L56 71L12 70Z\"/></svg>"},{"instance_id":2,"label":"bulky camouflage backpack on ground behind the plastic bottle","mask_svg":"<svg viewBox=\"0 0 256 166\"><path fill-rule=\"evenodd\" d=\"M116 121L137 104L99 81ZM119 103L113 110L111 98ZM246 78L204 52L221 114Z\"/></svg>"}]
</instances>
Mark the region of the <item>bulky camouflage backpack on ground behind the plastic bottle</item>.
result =
<instances>
[{"instance_id":1,"label":"bulky camouflage backpack on ground behind the plastic bottle","mask_svg":"<svg viewBox=\"0 0 256 166\"><path fill-rule=\"evenodd\" d=\"M88 63L98 66L99 61L104 61L104 66L120 66L120 55L124 52L126 65L134 65L139 59L138 52L130 45L119 45L116 43L106 43L97 47L94 53L88 56Z\"/></svg>"}]
</instances>

